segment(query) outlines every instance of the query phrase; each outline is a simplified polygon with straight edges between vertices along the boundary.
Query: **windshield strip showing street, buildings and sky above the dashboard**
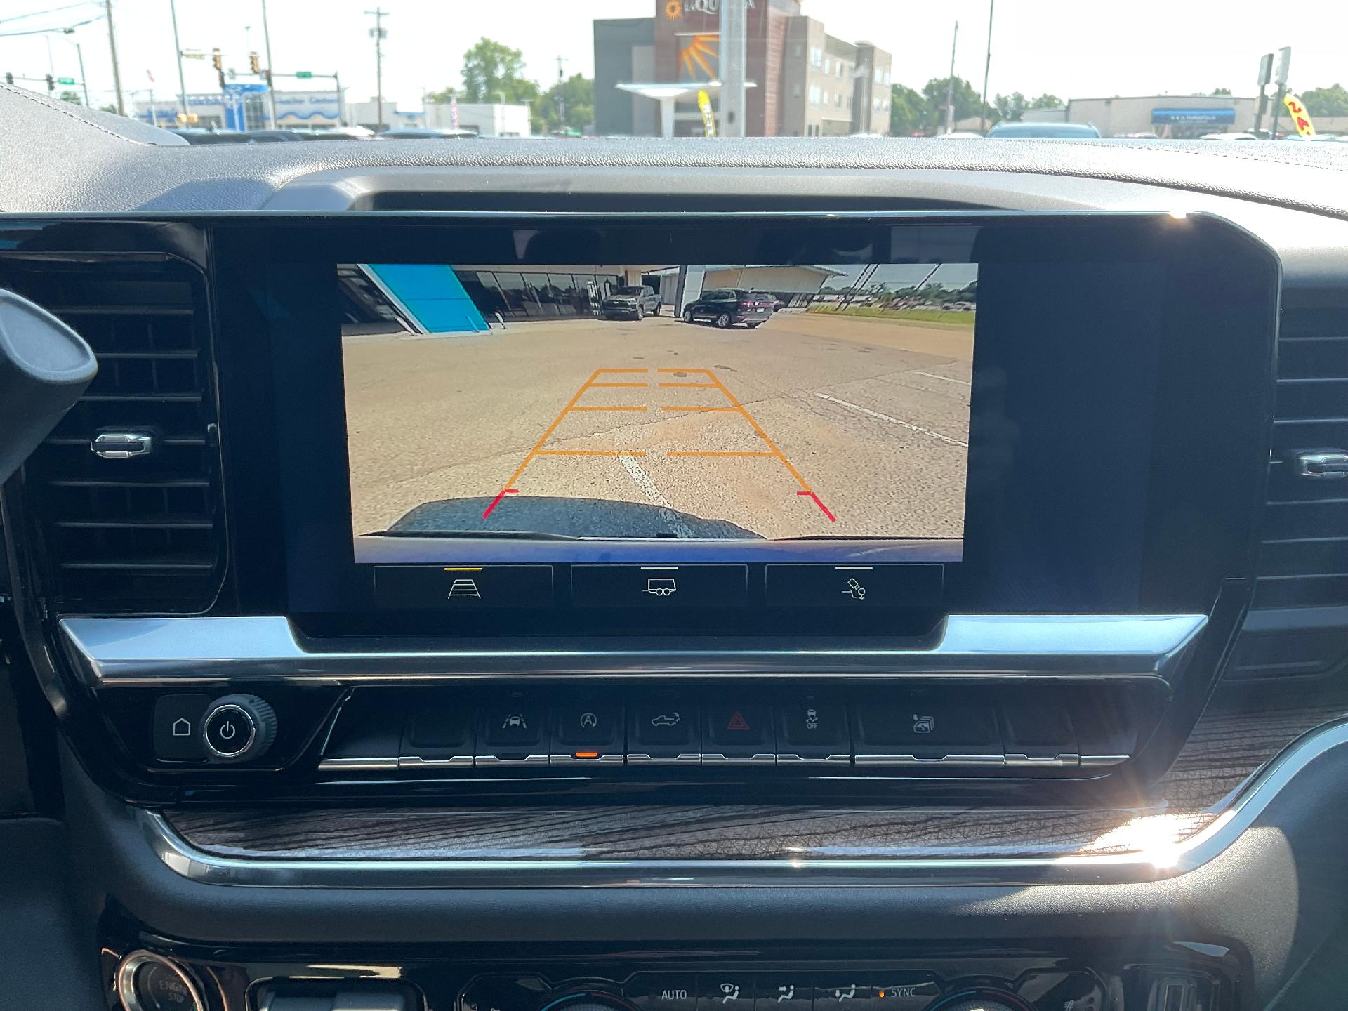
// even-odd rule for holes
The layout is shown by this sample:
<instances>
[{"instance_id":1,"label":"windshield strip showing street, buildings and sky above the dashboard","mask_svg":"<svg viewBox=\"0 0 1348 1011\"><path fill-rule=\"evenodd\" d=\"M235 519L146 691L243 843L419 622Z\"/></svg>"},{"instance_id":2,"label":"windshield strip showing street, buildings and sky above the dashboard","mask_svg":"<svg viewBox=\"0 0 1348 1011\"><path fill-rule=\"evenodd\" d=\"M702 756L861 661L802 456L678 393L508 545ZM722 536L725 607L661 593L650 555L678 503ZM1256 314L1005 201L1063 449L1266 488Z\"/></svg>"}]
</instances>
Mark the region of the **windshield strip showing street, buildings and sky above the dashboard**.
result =
<instances>
[{"instance_id":1,"label":"windshield strip showing street, buildings and sky above the dashboard","mask_svg":"<svg viewBox=\"0 0 1348 1011\"><path fill-rule=\"evenodd\" d=\"M9 0L0 65L189 143L1348 136L1348 5L1295 22L1314 30L1196 0Z\"/></svg>"}]
</instances>

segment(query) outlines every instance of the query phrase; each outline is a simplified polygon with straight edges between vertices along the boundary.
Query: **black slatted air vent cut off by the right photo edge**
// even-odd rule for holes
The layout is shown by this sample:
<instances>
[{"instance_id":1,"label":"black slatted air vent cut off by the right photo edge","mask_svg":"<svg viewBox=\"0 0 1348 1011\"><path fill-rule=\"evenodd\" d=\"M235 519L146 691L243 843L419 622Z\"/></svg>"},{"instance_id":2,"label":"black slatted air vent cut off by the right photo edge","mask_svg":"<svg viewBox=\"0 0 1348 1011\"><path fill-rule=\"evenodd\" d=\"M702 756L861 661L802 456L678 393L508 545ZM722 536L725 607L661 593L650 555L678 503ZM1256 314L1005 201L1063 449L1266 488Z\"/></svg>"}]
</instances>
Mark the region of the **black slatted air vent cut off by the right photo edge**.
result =
<instances>
[{"instance_id":1,"label":"black slatted air vent cut off by the right photo edge","mask_svg":"<svg viewBox=\"0 0 1348 1011\"><path fill-rule=\"evenodd\" d=\"M1255 607L1348 604L1348 477L1304 477L1298 456L1348 452L1348 306L1285 309Z\"/></svg>"}]
</instances>

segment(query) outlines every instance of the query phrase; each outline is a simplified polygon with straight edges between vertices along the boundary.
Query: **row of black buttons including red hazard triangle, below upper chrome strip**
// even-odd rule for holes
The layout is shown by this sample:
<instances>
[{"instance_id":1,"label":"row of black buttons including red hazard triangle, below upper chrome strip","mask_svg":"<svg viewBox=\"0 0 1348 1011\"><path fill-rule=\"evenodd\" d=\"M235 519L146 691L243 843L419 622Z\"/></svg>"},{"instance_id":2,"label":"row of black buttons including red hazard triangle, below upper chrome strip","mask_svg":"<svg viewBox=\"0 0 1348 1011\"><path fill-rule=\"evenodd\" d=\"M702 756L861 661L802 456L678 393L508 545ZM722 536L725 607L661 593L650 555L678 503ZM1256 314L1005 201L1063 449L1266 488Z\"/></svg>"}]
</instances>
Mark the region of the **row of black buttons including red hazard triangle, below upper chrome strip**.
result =
<instances>
[{"instance_id":1,"label":"row of black buttons including red hazard triangle, below upper chrome strip","mask_svg":"<svg viewBox=\"0 0 1348 1011\"><path fill-rule=\"evenodd\" d=\"M651 694L470 701L426 693L346 705L319 768L515 766L1074 767L1126 760L1089 714L949 694Z\"/></svg>"}]
</instances>

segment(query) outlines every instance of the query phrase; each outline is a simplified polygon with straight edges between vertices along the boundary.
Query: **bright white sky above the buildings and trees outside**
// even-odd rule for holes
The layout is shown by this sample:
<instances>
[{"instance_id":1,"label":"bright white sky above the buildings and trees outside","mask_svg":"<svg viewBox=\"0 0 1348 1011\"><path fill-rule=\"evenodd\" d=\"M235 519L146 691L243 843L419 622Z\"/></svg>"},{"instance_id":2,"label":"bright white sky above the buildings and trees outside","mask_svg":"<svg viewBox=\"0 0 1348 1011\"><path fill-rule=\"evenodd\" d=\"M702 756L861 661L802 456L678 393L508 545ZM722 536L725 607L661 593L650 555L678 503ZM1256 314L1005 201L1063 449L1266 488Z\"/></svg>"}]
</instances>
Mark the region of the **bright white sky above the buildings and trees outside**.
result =
<instances>
[{"instance_id":1,"label":"bright white sky above the buildings and trees outside","mask_svg":"<svg viewBox=\"0 0 1348 1011\"><path fill-rule=\"evenodd\" d=\"M594 19L648 18L663 9L663 0L268 0L275 70L336 70L349 100L371 97L375 19L365 11L376 1L388 12L384 94L403 109L419 108L423 90L460 85L462 54L484 35L522 50L528 75L547 86L557 80L558 55L568 75L593 74ZM1254 94L1259 55L1281 46L1293 47L1294 90L1348 86L1345 0L1302 0L1283 9L1251 0L995 3L989 97L1016 90L1061 98L1192 94L1215 88ZM178 90L168 7L170 0L113 0L128 98L131 92L144 98L150 89L156 97ZM247 71L249 49L264 53L262 0L177 0L177 7L185 50L218 47L225 65L240 71ZM39 78L16 84L40 90L49 71L78 78L71 44L78 42L93 102L109 102L112 61L102 8L102 0L0 0L0 71ZM892 53L894 80L918 89L948 73L958 22L956 74L981 88L988 0L802 0L801 9L832 35ZM16 34L70 26L80 27L73 34ZM266 55L262 59L266 65ZM218 90L209 59L183 63L189 92Z\"/></svg>"}]
</instances>

